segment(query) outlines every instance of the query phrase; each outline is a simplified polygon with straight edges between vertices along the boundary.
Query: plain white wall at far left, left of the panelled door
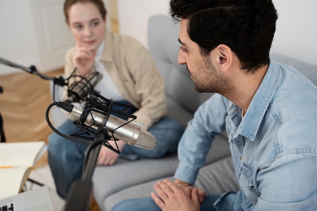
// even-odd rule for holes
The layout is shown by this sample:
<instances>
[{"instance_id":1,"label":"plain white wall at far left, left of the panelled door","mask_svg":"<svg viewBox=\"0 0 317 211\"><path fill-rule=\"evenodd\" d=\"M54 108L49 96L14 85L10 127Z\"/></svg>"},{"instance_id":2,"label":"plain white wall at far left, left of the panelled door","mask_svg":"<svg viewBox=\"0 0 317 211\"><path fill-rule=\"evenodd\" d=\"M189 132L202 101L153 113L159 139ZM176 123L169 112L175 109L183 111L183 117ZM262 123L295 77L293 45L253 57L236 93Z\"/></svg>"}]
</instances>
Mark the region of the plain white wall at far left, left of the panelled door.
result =
<instances>
[{"instance_id":1,"label":"plain white wall at far left, left of the panelled door","mask_svg":"<svg viewBox=\"0 0 317 211\"><path fill-rule=\"evenodd\" d=\"M0 0L0 31L0 57L27 67L38 64L38 46L28 1ZM0 64L0 74L14 71Z\"/></svg>"}]
</instances>

